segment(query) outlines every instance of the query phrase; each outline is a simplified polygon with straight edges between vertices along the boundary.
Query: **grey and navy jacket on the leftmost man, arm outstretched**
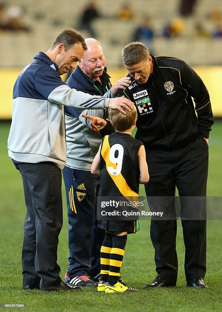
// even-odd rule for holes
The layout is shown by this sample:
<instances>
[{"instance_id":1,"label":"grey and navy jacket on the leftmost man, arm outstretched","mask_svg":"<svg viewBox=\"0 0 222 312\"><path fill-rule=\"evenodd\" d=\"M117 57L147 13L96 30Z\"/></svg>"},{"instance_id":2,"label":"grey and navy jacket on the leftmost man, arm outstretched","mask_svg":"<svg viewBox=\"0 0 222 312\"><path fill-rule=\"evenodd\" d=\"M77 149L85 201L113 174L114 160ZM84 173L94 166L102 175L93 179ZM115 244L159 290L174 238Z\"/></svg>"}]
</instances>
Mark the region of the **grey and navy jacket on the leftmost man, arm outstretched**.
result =
<instances>
[{"instance_id":1,"label":"grey and navy jacket on the leftmost man, arm outstretched","mask_svg":"<svg viewBox=\"0 0 222 312\"><path fill-rule=\"evenodd\" d=\"M88 109L108 107L109 99L70 89L58 66L43 52L19 74L13 89L8 154L15 162L66 163L63 105Z\"/></svg>"}]
</instances>

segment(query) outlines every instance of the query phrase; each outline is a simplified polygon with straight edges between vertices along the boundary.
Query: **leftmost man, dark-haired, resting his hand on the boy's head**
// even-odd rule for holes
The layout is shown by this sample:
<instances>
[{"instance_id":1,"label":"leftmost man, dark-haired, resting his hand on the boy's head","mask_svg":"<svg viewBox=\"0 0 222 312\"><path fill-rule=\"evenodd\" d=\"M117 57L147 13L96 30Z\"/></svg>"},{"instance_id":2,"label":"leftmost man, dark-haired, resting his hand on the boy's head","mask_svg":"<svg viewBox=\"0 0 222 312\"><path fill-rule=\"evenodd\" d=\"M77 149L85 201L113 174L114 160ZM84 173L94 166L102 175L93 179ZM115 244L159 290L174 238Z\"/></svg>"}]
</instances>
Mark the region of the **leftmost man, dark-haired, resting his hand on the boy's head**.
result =
<instances>
[{"instance_id":1,"label":"leftmost man, dark-haired, resting his hand on the boy's head","mask_svg":"<svg viewBox=\"0 0 222 312\"><path fill-rule=\"evenodd\" d=\"M64 105L102 110L109 106L121 111L121 106L132 107L126 99L77 92L61 80L60 75L75 68L86 49L81 34L66 29L46 53L40 52L25 66L14 85L8 154L22 175L27 207L23 290L80 290L61 280L57 264L62 227L61 170L66 162Z\"/></svg>"}]
</instances>

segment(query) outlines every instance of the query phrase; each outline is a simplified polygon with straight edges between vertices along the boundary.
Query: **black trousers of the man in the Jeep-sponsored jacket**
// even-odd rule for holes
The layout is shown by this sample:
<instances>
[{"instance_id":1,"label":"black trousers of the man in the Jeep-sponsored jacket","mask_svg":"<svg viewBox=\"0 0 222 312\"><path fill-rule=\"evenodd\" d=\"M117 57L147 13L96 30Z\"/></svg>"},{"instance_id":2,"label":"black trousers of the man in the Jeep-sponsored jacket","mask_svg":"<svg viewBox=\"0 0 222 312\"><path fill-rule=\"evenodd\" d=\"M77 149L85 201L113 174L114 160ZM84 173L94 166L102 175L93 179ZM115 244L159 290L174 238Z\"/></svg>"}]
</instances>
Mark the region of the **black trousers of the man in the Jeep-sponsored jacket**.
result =
<instances>
[{"instance_id":1,"label":"black trousers of the man in the Jeep-sponsored jacket","mask_svg":"<svg viewBox=\"0 0 222 312\"><path fill-rule=\"evenodd\" d=\"M184 148L169 151L146 149L150 180L147 196L206 196L208 144L197 138ZM151 197L152 198L152 197ZM153 203L151 203L153 204ZM175 209L175 207L174 207ZM181 198L181 210L183 200ZM161 209L159 209L161 211ZM186 280L204 278L206 272L206 220L181 220L185 244ZM151 220L150 236L155 249L157 276L176 285L176 220Z\"/></svg>"}]
</instances>

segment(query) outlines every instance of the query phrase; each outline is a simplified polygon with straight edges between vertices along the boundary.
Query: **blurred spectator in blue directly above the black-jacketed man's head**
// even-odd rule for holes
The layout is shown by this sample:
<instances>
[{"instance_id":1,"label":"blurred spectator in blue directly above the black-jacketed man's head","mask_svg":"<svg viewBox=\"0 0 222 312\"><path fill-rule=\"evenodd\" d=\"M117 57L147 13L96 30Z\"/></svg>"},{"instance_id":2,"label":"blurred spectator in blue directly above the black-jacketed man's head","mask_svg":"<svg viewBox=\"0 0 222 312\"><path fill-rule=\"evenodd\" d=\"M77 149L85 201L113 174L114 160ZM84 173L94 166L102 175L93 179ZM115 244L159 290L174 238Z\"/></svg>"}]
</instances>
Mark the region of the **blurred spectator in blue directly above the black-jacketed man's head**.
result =
<instances>
[{"instance_id":1,"label":"blurred spectator in blue directly above the black-jacketed man's head","mask_svg":"<svg viewBox=\"0 0 222 312\"><path fill-rule=\"evenodd\" d=\"M143 24L136 29L133 41L142 42L150 51L152 40L153 29L151 27L151 19L150 17L145 17L143 20Z\"/></svg>"}]
</instances>

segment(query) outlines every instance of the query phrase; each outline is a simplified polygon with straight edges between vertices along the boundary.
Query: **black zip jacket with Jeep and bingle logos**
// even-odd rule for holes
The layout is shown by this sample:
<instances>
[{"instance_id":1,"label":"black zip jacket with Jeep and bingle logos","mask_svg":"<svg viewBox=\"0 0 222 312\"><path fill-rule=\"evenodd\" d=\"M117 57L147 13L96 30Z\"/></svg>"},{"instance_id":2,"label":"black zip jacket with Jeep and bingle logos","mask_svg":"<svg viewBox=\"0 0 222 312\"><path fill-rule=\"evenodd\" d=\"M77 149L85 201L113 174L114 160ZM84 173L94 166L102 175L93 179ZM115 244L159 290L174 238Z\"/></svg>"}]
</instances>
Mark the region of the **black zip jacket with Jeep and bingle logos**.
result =
<instances>
[{"instance_id":1,"label":"black zip jacket with Jeep and bingle logos","mask_svg":"<svg viewBox=\"0 0 222 312\"><path fill-rule=\"evenodd\" d=\"M152 56L152 59L154 71L147 82L139 84L128 75L131 85L117 95L124 94L137 107L135 138L147 149L164 150L184 147L199 135L208 138L214 122L203 81L176 57Z\"/></svg>"}]
</instances>

